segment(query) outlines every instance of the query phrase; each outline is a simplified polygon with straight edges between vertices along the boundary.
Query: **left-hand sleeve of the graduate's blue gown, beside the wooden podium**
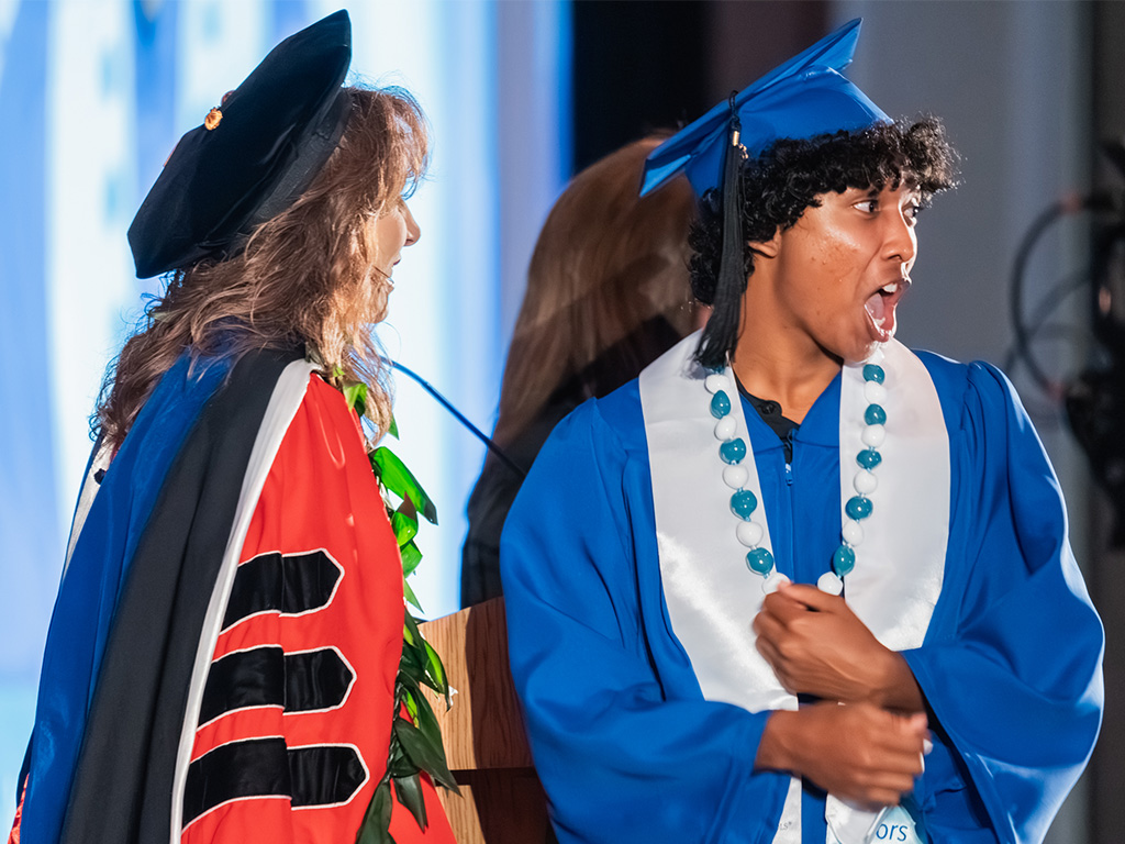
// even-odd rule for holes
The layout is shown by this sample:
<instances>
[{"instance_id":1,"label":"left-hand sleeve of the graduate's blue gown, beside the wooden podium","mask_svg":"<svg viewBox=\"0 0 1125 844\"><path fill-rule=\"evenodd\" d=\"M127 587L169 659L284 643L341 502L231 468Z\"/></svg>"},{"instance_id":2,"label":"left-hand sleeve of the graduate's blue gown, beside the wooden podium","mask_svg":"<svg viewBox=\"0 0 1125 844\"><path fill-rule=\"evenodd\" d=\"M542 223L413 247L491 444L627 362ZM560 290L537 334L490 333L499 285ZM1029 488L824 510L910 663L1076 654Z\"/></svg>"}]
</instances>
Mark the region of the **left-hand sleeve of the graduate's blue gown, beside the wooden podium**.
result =
<instances>
[{"instance_id":1,"label":"left-hand sleeve of the graduate's blue gown, beside the wooden podium","mask_svg":"<svg viewBox=\"0 0 1125 844\"><path fill-rule=\"evenodd\" d=\"M651 493L637 500L629 459L586 403L543 447L501 544L512 674L559 841L767 844L789 783L753 771L768 713L654 668L650 648L668 645L645 630L666 619L644 618L663 599L641 596L658 574L637 548L651 528L634 524Z\"/></svg>"}]
</instances>

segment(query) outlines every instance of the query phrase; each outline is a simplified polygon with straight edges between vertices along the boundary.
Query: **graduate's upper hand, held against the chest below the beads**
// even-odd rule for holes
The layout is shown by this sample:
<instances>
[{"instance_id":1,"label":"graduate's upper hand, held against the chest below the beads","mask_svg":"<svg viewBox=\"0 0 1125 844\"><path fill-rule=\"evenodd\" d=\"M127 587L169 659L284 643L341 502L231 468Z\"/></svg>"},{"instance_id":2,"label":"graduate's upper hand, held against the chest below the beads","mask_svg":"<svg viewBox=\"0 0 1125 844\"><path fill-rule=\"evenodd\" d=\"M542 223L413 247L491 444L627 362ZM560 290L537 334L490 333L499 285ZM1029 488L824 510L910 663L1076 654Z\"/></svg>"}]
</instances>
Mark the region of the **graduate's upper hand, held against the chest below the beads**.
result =
<instances>
[{"instance_id":1,"label":"graduate's upper hand, held against the chest below the beads","mask_svg":"<svg viewBox=\"0 0 1125 844\"><path fill-rule=\"evenodd\" d=\"M754 632L758 652L792 694L924 710L906 659L883 647L838 595L784 585L766 595Z\"/></svg>"}]
</instances>

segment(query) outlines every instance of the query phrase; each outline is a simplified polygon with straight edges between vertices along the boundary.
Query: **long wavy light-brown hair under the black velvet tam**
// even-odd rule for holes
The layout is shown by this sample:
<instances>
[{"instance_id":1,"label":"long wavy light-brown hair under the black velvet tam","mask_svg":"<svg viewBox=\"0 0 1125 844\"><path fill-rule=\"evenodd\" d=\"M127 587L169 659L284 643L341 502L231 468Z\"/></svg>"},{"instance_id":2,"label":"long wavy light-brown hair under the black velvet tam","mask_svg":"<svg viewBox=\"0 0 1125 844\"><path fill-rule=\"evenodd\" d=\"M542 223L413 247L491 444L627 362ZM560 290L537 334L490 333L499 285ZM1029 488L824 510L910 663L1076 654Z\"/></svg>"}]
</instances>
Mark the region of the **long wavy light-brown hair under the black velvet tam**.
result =
<instances>
[{"instance_id":1,"label":"long wavy light-brown hair under the black velvet tam","mask_svg":"<svg viewBox=\"0 0 1125 844\"><path fill-rule=\"evenodd\" d=\"M403 201L425 172L428 125L399 89L345 89L351 115L340 144L297 201L225 260L176 270L110 366L92 419L120 446L161 376L188 350L199 359L305 344L325 377L368 385L366 413L390 424L386 369L370 330L392 285L375 268L372 218Z\"/></svg>"}]
</instances>

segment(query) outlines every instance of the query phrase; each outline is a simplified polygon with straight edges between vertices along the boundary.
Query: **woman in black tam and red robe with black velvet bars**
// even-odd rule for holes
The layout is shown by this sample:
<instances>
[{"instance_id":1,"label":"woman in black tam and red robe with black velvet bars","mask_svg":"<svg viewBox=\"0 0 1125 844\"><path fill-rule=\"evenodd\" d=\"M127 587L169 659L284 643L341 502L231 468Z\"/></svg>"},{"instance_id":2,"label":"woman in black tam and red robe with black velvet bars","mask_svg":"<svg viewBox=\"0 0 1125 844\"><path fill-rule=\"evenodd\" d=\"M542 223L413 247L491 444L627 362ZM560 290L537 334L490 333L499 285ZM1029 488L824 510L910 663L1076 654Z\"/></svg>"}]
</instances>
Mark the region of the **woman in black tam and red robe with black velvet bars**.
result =
<instances>
[{"instance_id":1,"label":"woman in black tam and red robe with black velvet bars","mask_svg":"<svg viewBox=\"0 0 1125 844\"><path fill-rule=\"evenodd\" d=\"M282 42L129 228L168 287L94 415L15 844L452 842L400 752L429 724L367 456L428 129L405 91L342 87L350 60L343 11Z\"/></svg>"}]
</instances>

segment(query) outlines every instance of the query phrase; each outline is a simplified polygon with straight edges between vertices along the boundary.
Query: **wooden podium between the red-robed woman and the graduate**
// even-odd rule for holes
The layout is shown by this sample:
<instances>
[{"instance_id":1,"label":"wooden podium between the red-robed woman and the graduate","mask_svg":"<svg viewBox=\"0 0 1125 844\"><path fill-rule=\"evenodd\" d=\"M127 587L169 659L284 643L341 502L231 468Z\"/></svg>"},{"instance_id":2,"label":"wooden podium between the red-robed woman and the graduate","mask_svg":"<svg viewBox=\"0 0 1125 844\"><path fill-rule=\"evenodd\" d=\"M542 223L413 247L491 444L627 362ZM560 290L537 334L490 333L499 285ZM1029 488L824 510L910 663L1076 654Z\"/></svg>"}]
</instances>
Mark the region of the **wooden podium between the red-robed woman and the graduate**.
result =
<instances>
[{"instance_id":1,"label":"wooden podium between the red-robed woman and the graduate","mask_svg":"<svg viewBox=\"0 0 1125 844\"><path fill-rule=\"evenodd\" d=\"M420 627L457 690L448 712L431 700L461 788L460 797L438 789L458 844L555 841L508 672L504 599Z\"/></svg>"}]
</instances>

